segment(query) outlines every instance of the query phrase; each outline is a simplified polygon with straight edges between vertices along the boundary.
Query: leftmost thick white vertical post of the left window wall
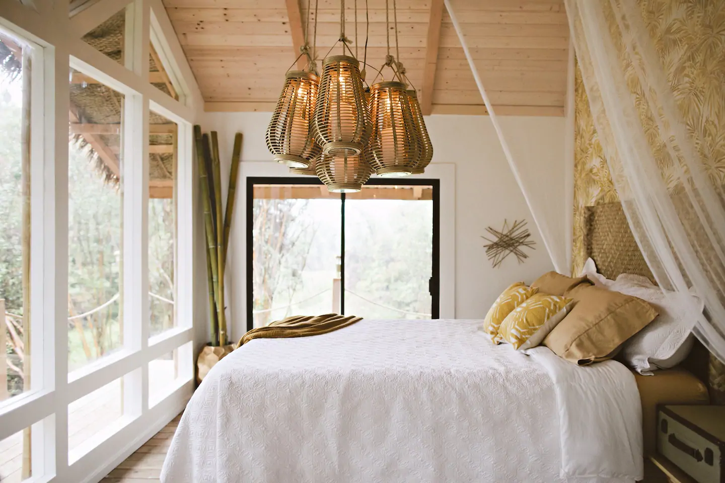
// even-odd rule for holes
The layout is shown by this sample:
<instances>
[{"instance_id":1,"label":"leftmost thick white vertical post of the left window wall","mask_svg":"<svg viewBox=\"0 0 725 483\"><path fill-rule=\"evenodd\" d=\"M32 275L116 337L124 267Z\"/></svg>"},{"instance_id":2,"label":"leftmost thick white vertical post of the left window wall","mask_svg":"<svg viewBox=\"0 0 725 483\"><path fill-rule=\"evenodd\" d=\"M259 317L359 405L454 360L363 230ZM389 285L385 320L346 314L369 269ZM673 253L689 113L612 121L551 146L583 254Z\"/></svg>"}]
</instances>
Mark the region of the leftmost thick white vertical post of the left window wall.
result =
<instances>
[{"instance_id":1,"label":"leftmost thick white vertical post of the left window wall","mask_svg":"<svg viewBox=\"0 0 725 483\"><path fill-rule=\"evenodd\" d=\"M46 95L53 99L51 115L45 117L43 236L43 331L49 344L44 351L46 374L54 374L59 408L48 419L46 444L54 443L55 473L63 481L68 468L68 111L70 56L63 46L54 49L54 68L46 77ZM37 235L37 234L36 234ZM37 241L37 240L36 240ZM53 424L54 420L54 424ZM46 458L46 461L48 458ZM50 462L49 462L50 463ZM46 468L46 472L49 471Z\"/></svg>"}]
</instances>

